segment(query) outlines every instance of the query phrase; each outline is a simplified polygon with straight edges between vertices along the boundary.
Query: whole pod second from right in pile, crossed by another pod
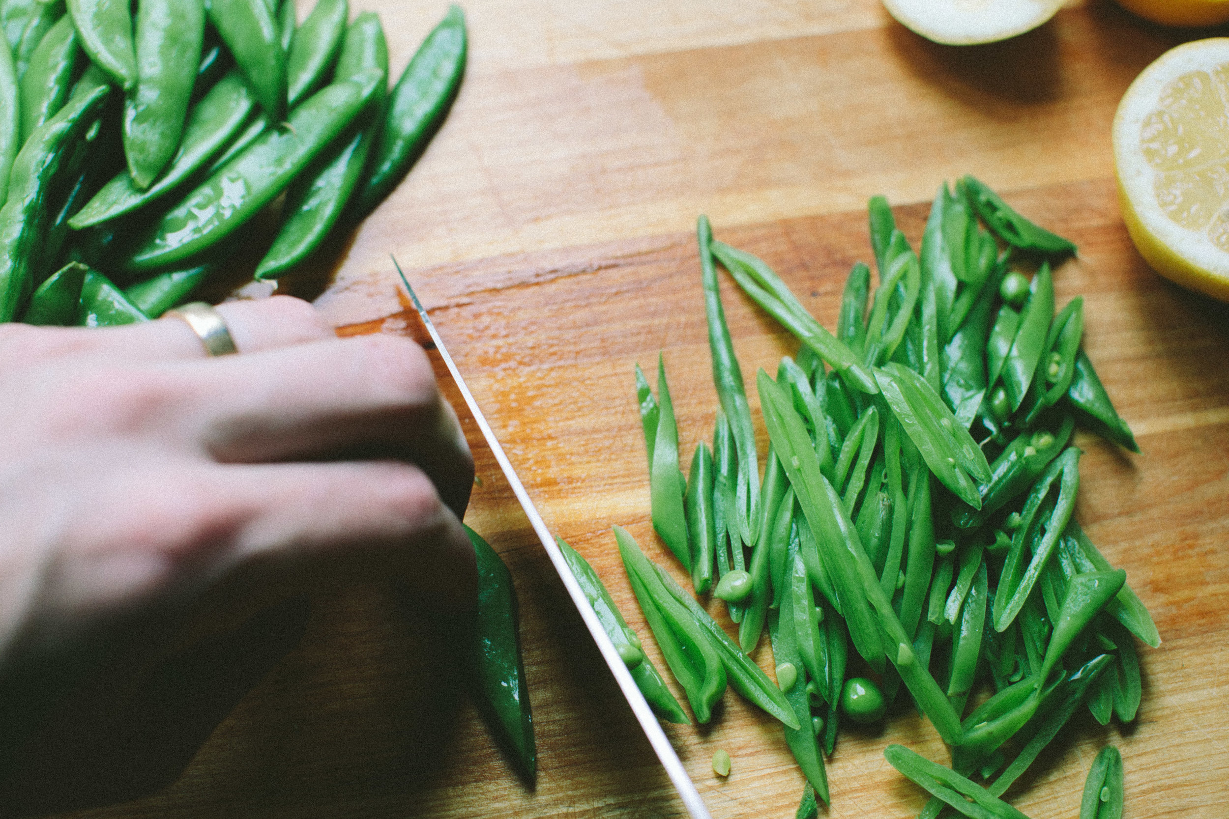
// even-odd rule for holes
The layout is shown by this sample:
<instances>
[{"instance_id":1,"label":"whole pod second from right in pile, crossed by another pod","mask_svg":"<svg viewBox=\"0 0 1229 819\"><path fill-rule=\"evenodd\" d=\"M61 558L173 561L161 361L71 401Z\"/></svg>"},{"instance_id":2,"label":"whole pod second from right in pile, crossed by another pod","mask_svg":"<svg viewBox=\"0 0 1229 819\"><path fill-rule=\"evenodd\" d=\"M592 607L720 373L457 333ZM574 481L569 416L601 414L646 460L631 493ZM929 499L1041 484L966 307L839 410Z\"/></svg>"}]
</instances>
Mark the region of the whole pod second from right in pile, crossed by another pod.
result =
<instances>
[{"instance_id":1,"label":"whole pod second from right in pile, crossed by another pod","mask_svg":"<svg viewBox=\"0 0 1229 819\"><path fill-rule=\"evenodd\" d=\"M307 31L310 22L311 17L304 23L302 32ZM296 36L296 49L300 42ZM291 52L291 68L294 54ZM383 71L387 76L388 47L380 18L371 12L363 12L347 31L334 76L340 80L370 69ZM294 268L320 247L338 223L363 174L380 125L382 107L383 88L377 86L367 112L363 114L361 130L351 135L339 150L329 149L333 153L327 161L318 162L318 171L302 174L290 185L281 211L281 227L256 269L257 279L277 279Z\"/></svg>"}]
</instances>

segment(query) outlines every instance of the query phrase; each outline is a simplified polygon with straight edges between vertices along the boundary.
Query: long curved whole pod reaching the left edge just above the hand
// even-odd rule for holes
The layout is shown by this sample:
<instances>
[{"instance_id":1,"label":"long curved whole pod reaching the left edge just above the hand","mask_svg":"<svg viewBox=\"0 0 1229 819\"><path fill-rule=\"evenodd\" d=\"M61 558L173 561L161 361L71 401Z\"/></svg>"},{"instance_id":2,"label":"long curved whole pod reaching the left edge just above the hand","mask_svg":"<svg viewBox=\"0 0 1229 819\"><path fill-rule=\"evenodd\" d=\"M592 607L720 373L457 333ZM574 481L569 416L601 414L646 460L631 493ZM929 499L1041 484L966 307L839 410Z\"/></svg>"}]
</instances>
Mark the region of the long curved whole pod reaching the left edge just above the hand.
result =
<instances>
[{"instance_id":1,"label":"long curved whole pod reaching the left edge just above the hand","mask_svg":"<svg viewBox=\"0 0 1229 819\"><path fill-rule=\"evenodd\" d=\"M47 194L77 144L96 128L108 93L104 85L80 87L14 160L9 198L0 209L0 322L11 322L33 290L33 257L54 219Z\"/></svg>"}]
</instances>

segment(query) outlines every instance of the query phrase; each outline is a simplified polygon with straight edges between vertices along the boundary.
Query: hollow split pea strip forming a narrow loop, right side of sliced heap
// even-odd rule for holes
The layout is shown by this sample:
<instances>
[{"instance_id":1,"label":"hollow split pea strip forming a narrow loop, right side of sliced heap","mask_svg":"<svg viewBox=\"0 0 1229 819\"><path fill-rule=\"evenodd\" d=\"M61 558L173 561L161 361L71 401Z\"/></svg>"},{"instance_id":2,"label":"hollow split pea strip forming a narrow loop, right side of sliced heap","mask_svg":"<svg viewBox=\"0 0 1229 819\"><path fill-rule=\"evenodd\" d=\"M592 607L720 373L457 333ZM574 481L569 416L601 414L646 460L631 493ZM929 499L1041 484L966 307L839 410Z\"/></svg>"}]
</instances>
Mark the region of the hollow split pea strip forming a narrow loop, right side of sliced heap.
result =
<instances>
[{"instance_id":1,"label":"hollow split pea strip forming a narrow loop, right side of sliced heap","mask_svg":"<svg viewBox=\"0 0 1229 819\"><path fill-rule=\"evenodd\" d=\"M1041 570L1046 567L1054 545L1075 508L1075 492L1079 490L1079 456L1075 447L1058 456L1042 473L1029 492L1024 512L1020 514L1020 527L1011 538L1011 550L1008 553L994 596L994 630L1003 631L1015 619L1024 607L1025 599L1032 592ZM1051 511L1037 516L1042 502L1048 497L1051 485L1059 479L1058 499ZM1043 529L1043 533L1041 532ZM1032 557L1027 569L1021 569L1025 546Z\"/></svg>"}]
</instances>

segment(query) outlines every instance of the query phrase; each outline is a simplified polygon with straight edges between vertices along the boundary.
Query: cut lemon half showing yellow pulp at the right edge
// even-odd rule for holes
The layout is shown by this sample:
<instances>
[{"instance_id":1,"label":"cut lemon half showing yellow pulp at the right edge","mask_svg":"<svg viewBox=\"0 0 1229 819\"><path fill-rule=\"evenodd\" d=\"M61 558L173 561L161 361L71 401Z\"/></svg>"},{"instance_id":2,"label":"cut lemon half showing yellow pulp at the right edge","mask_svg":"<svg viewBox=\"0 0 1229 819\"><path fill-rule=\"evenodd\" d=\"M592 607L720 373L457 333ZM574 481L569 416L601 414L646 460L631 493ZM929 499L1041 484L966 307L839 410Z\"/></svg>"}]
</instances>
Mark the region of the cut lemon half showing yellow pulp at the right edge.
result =
<instances>
[{"instance_id":1,"label":"cut lemon half showing yellow pulp at the right edge","mask_svg":"<svg viewBox=\"0 0 1229 819\"><path fill-rule=\"evenodd\" d=\"M1113 118L1122 219L1139 254L1229 301L1229 38L1161 54Z\"/></svg>"}]
</instances>

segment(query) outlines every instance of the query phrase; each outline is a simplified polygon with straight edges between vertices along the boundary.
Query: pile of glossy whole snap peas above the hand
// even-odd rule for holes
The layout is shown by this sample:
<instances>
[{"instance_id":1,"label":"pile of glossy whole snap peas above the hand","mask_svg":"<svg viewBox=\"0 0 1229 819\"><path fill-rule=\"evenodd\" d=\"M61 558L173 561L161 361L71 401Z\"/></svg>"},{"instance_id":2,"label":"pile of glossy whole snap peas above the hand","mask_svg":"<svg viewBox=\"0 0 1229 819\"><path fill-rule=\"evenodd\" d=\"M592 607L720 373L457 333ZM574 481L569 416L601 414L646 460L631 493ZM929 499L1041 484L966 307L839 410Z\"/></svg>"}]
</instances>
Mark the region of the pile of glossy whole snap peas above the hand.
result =
<instances>
[{"instance_id":1,"label":"pile of glossy whole snap peas above the hand","mask_svg":"<svg viewBox=\"0 0 1229 819\"><path fill-rule=\"evenodd\" d=\"M390 91L379 17L348 17L0 0L0 322L156 318L237 255L277 279L361 221L442 122L467 38L452 6Z\"/></svg>"}]
</instances>

